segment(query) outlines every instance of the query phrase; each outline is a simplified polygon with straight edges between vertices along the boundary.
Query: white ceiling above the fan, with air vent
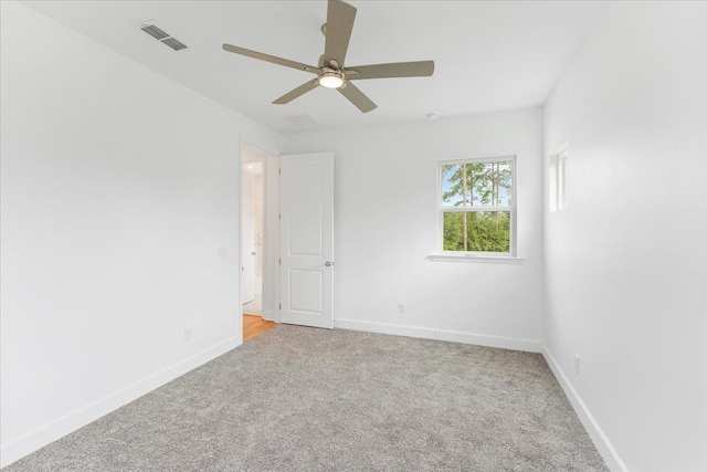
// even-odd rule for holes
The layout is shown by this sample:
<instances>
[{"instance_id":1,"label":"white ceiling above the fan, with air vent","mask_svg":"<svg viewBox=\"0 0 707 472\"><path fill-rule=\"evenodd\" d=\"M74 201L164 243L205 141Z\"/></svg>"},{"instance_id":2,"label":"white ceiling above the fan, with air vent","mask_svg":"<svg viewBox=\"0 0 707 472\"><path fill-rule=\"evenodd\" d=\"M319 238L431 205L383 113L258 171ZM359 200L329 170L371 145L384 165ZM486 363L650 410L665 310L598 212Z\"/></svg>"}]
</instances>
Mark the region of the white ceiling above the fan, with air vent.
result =
<instances>
[{"instance_id":1,"label":"white ceiling above the fan, with air vent","mask_svg":"<svg viewBox=\"0 0 707 472\"><path fill-rule=\"evenodd\" d=\"M309 114L351 127L542 105L601 2L361 1L346 65L434 60L432 77L359 81L378 108L360 113L317 88L287 105L272 101L312 78L305 72L225 52L223 43L317 65L318 1L24 1L28 7L261 124ZM146 20L189 49L173 52L141 32Z\"/></svg>"}]
</instances>

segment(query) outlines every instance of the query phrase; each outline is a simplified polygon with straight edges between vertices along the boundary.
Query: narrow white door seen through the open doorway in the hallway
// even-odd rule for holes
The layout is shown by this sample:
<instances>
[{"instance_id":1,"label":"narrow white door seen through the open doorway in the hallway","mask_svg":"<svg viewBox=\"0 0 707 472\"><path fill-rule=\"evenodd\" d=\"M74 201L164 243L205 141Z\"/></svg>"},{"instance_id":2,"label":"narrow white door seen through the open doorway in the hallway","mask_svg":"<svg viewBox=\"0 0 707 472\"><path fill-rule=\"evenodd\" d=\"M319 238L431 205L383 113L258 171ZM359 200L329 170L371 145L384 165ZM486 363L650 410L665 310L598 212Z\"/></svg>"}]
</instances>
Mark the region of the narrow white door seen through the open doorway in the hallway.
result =
<instances>
[{"instance_id":1,"label":"narrow white door seen through the open doorway in the hallway","mask_svg":"<svg viewBox=\"0 0 707 472\"><path fill-rule=\"evenodd\" d=\"M242 248L241 248L241 303L255 298L255 223L253 221L253 175L242 169Z\"/></svg>"}]
</instances>

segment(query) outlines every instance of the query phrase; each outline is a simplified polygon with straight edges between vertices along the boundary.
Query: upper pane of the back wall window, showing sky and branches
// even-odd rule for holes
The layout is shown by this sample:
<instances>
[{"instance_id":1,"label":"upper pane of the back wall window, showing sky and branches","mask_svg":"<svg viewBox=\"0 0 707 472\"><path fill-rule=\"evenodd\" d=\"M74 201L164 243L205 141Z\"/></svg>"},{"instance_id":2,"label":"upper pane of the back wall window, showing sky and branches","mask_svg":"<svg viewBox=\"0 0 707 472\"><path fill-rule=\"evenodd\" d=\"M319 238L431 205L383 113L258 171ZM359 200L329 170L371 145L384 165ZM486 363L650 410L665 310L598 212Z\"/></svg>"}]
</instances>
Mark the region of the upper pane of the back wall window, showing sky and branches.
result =
<instances>
[{"instance_id":1,"label":"upper pane of the back wall window, showing sky and branches","mask_svg":"<svg viewBox=\"0 0 707 472\"><path fill-rule=\"evenodd\" d=\"M510 161L442 165L442 204L453 207L511 204Z\"/></svg>"}]
</instances>

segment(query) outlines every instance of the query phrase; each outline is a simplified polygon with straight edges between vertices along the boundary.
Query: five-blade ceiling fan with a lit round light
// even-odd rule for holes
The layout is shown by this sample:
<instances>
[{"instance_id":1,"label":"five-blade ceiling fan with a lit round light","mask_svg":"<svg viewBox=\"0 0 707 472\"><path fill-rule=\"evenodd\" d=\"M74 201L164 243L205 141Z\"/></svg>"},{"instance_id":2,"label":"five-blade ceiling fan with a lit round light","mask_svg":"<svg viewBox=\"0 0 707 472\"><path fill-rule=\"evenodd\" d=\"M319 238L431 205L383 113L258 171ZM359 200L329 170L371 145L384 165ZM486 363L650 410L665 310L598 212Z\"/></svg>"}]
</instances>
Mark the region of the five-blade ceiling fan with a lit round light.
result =
<instances>
[{"instance_id":1,"label":"five-blade ceiling fan with a lit round light","mask_svg":"<svg viewBox=\"0 0 707 472\"><path fill-rule=\"evenodd\" d=\"M321 85L326 88L336 88L363 113L368 113L377 105L367 97L351 81L365 78L384 77L426 77L434 72L434 61L394 62L388 64L352 65L344 66L346 51L349 46L356 8L341 0L328 0L327 22L321 27L326 36L324 54L319 57L319 65L303 64L287 59L276 57L262 52L251 51L244 48L223 44L223 49L235 54L260 59L273 64L297 69L299 71L316 74L316 78L308 81L292 92L286 93L273 103L283 105L310 92Z\"/></svg>"}]
</instances>

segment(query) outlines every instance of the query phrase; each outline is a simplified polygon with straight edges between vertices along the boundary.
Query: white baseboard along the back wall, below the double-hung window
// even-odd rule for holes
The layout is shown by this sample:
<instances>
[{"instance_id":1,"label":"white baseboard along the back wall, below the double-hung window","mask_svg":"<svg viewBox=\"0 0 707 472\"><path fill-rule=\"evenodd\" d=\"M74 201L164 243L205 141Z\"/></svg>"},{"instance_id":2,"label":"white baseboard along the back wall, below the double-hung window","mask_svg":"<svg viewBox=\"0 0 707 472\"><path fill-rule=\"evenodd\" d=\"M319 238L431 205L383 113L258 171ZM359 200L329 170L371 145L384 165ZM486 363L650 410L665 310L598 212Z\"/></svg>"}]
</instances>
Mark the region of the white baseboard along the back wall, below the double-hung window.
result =
<instances>
[{"instance_id":1,"label":"white baseboard along the back wall, below the double-hung window","mask_svg":"<svg viewBox=\"0 0 707 472\"><path fill-rule=\"evenodd\" d=\"M525 350L528 353L540 353L542 350L542 344L538 340L489 336L485 334L464 333L456 331L421 328L416 326L360 322L357 319L345 318L335 318L334 327L341 329L365 331L370 333L392 334L395 336L449 340L452 343L475 344L478 346L500 347L503 349Z\"/></svg>"}]
</instances>

